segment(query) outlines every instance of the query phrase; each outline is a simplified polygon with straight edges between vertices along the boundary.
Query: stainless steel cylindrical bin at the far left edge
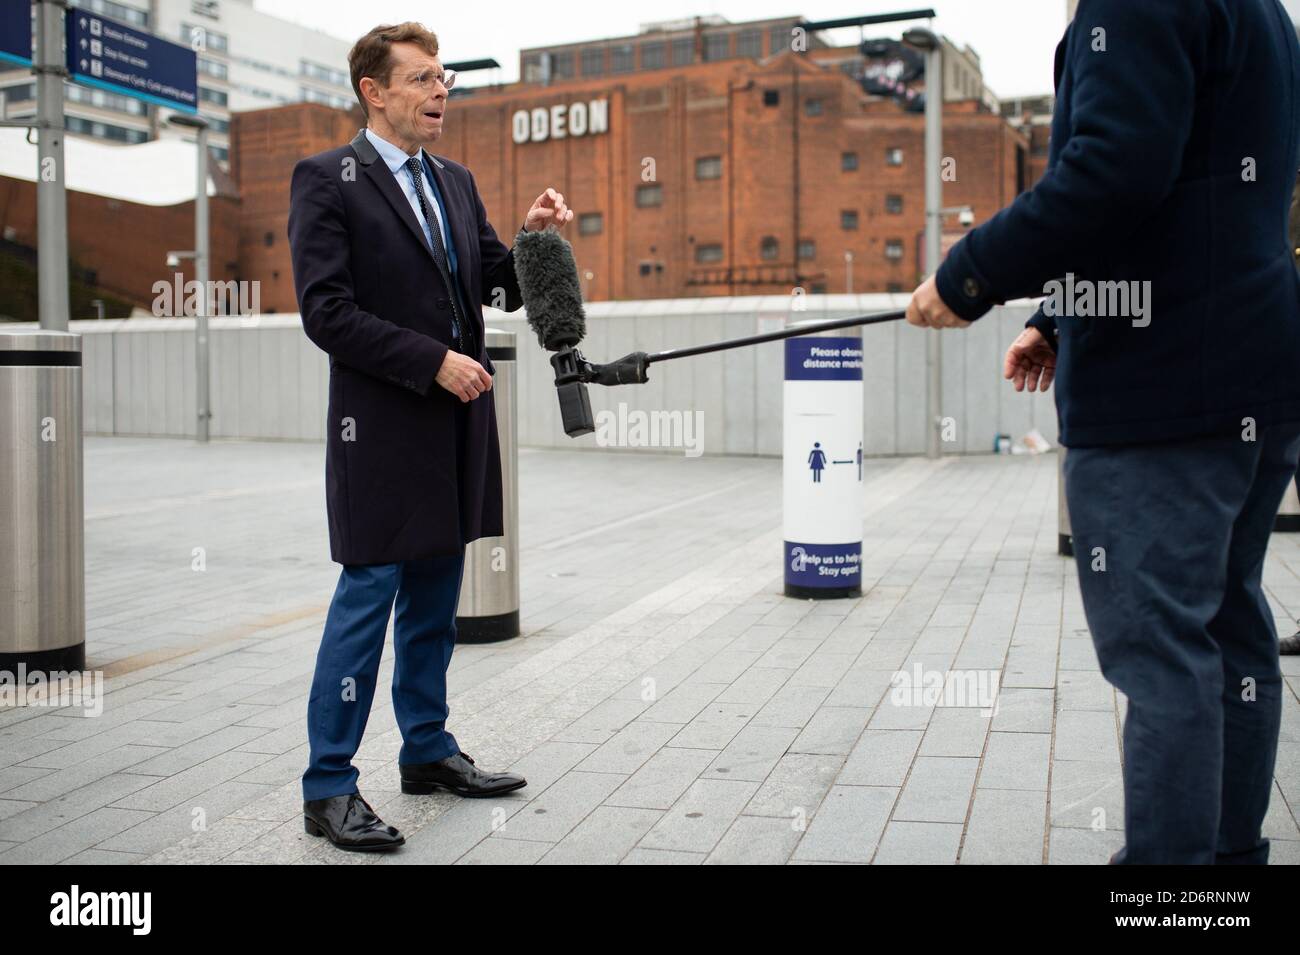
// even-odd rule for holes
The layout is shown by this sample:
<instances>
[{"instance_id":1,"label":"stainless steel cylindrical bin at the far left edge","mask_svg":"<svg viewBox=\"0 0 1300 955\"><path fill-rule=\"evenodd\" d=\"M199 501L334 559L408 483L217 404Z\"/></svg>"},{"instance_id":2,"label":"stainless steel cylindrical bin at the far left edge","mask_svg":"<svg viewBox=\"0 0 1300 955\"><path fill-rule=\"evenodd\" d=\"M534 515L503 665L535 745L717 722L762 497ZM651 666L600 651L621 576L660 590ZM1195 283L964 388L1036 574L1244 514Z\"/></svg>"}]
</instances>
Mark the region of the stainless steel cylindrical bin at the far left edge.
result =
<instances>
[{"instance_id":1,"label":"stainless steel cylindrical bin at the far left edge","mask_svg":"<svg viewBox=\"0 0 1300 955\"><path fill-rule=\"evenodd\" d=\"M86 667L82 343L0 329L0 670Z\"/></svg>"}]
</instances>

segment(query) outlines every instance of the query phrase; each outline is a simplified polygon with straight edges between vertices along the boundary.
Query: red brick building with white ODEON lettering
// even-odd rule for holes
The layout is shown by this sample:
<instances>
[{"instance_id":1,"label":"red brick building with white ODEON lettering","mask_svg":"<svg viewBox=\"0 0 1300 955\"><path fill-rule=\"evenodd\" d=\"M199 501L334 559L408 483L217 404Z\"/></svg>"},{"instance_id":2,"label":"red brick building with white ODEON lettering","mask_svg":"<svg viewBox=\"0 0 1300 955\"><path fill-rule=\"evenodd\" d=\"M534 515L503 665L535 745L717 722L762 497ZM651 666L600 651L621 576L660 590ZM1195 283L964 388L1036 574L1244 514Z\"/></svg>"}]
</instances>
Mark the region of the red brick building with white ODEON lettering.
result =
<instances>
[{"instance_id":1,"label":"red brick building with white ODEON lettering","mask_svg":"<svg viewBox=\"0 0 1300 955\"><path fill-rule=\"evenodd\" d=\"M474 90L451 99L438 152L469 166L498 229L563 191L590 299L910 291L924 120L844 65L781 51ZM944 156L944 205L976 223L1032 185L1028 139L980 99L946 104Z\"/></svg>"}]
</instances>

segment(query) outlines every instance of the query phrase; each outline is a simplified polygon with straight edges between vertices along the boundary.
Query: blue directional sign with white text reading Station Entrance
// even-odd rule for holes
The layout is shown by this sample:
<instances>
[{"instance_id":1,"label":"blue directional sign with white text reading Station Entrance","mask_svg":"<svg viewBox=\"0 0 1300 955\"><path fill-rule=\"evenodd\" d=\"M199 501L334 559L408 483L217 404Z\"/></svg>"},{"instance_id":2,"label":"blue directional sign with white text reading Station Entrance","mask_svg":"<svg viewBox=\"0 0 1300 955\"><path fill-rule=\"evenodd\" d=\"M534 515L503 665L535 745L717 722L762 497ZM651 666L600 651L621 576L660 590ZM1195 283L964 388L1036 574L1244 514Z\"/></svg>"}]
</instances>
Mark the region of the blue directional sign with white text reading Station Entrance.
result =
<instances>
[{"instance_id":1,"label":"blue directional sign with white text reading Station Entrance","mask_svg":"<svg viewBox=\"0 0 1300 955\"><path fill-rule=\"evenodd\" d=\"M68 71L86 86L199 112L199 62L192 49L75 8L68 10Z\"/></svg>"}]
</instances>

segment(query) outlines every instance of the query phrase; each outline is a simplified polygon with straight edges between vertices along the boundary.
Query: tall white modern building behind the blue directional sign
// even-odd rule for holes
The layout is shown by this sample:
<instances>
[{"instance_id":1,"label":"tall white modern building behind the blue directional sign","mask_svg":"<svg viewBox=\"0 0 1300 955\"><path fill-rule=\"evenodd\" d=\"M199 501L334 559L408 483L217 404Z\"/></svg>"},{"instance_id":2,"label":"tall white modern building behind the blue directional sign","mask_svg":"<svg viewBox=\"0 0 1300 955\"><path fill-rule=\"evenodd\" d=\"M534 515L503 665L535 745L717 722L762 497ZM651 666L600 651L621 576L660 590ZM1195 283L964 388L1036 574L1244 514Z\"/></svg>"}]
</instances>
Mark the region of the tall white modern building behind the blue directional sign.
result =
<instances>
[{"instance_id":1,"label":"tall white modern building behind the blue directional sign","mask_svg":"<svg viewBox=\"0 0 1300 955\"><path fill-rule=\"evenodd\" d=\"M199 113L211 126L208 142L222 161L229 159L231 112L299 101L346 109L354 101L347 75L351 44L261 13L252 0L69 4L198 51ZM35 92L30 70L0 70L4 118L35 116ZM170 109L75 83L66 84L65 110L69 133L95 139L143 143L182 135L166 122Z\"/></svg>"}]
</instances>

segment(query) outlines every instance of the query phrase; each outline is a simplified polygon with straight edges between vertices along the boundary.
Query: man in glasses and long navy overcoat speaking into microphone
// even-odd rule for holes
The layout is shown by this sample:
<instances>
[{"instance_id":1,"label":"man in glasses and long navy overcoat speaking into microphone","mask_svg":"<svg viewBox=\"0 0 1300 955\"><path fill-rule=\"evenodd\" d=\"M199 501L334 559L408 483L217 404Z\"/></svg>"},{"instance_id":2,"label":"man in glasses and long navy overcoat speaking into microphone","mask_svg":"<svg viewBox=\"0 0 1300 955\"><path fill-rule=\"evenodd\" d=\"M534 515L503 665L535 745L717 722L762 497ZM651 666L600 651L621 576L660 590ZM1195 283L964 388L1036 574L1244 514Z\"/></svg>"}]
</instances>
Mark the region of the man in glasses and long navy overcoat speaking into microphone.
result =
<instances>
[{"instance_id":1,"label":"man in glasses and long navy overcoat speaking into microphone","mask_svg":"<svg viewBox=\"0 0 1300 955\"><path fill-rule=\"evenodd\" d=\"M342 848L389 850L404 838L361 798L352 758L394 608L402 791L525 785L478 769L446 728L465 544L503 533L482 304L521 299L473 175L428 152L455 83L437 38L419 23L376 27L348 65L367 127L296 165L289 216L303 327L330 357L325 492L343 565L307 711L303 813L309 834ZM572 217L547 188L524 227Z\"/></svg>"}]
</instances>

